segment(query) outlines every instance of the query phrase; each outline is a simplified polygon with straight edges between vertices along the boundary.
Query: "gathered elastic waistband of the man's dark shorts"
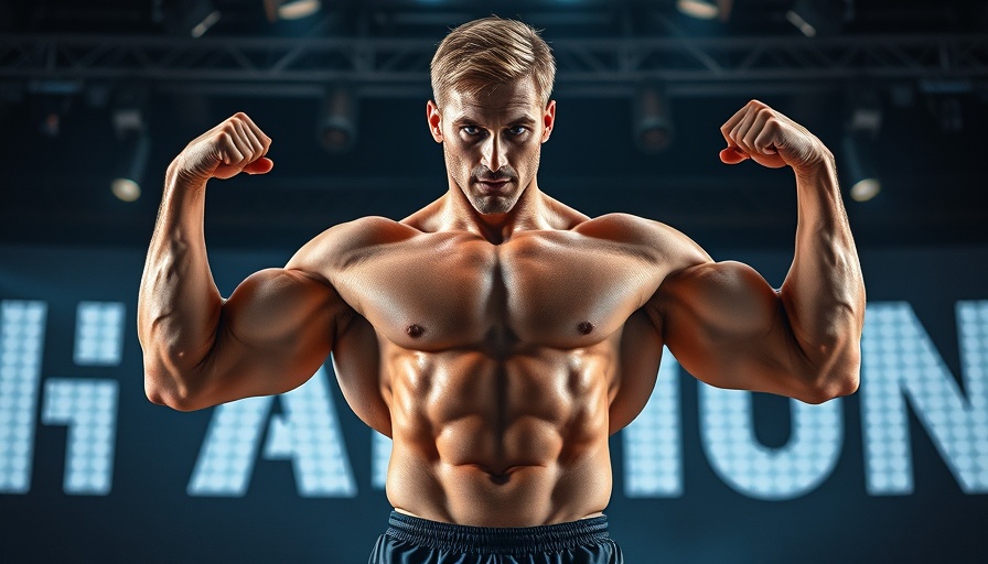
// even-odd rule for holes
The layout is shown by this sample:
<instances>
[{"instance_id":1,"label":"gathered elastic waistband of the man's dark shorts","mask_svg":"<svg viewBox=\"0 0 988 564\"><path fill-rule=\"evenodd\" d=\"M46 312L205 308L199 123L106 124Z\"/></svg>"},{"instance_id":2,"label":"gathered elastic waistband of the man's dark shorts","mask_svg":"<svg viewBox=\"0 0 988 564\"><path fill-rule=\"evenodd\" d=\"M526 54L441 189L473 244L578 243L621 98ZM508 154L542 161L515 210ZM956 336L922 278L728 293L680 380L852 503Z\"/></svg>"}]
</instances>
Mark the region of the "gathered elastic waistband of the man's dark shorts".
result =
<instances>
[{"instance_id":1,"label":"gathered elastic waistband of the man's dark shorts","mask_svg":"<svg viewBox=\"0 0 988 564\"><path fill-rule=\"evenodd\" d=\"M608 517L537 527L472 527L391 511L389 536L419 546L481 554L559 552L610 539Z\"/></svg>"}]
</instances>

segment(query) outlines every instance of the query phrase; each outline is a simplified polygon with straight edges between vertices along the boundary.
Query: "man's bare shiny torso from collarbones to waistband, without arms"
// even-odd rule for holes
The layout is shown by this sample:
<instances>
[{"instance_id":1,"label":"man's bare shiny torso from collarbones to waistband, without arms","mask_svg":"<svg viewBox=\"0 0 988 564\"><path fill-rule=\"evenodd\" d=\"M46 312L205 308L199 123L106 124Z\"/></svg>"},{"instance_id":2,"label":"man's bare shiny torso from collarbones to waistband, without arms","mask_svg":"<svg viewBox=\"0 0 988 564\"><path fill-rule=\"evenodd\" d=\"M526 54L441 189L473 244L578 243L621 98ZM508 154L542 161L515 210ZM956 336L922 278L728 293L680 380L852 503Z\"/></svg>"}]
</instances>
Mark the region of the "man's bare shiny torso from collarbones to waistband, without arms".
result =
<instances>
[{"instance_id":1,"label":"man's bare shiny torso from collarbones to waistband, without arms","mask_svg":"<svg viewBox=\"0 0 988 564\"><path fill-rule=\"evenodd\" d=\"M644 405L662 352L638 311L659 276L643 273L669 264L608 237L633 218L588 220L540 198L552 223L500 245L438 229L436 204L401 224L331 230L289 264L325 276L355 304L351 324L374 327L334 357L354 411L394 438L387 491L399 510L515 527L608 503L608 437ZM373 242L327 251L356 234Z\"/></svg>"}]
</instances>

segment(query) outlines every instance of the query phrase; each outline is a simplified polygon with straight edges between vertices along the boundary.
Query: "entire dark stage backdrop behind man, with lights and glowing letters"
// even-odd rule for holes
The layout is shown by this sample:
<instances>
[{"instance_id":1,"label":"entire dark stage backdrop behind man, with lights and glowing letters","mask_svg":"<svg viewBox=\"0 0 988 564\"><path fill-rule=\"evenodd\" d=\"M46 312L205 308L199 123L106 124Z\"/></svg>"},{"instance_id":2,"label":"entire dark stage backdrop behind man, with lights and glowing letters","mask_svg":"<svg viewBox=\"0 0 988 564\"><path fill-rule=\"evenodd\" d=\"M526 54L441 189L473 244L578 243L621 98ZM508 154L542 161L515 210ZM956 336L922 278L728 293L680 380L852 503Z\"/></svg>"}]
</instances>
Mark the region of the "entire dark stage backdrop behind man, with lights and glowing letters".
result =
<instances>
[{"instance_id":1,"label":"entire dark stage backdrop behind man, with lights and glowing letters","mask_svg":"<svg viewBox=\"0 0 988 564\"><path fill-rule=\"evenodd\" d=\"M720 124L756 98L835 153L861 251L879 325L859 394L718 403L666 361L673 388L613 443L630 562L988 558L988 2L2 0L0 561L366 561L386 441L329 365L297 403L148 403L143 252L168 163L236 111L273 139L275 169L210 186L224 294L329 226L442 195L429 61L492 13L543 29L557 59L549 195L664 221L777 285L792 174L718 160ZM335 431L305 451L303 429ZM764 458L755 474L718 454L737 442ZM780 477L801 465L815 478Z\"/></svg>"}]
</instances>

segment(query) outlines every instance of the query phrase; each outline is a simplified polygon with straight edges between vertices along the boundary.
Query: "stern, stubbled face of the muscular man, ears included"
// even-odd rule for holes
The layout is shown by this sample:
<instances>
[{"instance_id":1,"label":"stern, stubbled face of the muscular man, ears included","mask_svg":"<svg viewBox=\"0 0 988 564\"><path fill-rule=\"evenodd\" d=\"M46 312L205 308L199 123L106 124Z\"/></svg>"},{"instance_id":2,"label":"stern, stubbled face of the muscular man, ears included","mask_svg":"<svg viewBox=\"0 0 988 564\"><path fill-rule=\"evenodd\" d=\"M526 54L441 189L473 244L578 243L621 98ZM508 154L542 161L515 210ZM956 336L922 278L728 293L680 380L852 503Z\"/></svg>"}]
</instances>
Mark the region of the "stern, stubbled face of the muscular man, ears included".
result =
<instances>
[{"instance_id":1,"label":"stern, stubbled face of the muscular man, ears included","mask_svg":"<svg viewBox=\"0 0 988 564\"><path fill-rule=\"evenodd\" d=\"M431 101L427 112L452 182L479 213L504 214L538 172L556 102L543 107L535 82L526 77L491 93L451 91L441 112Z\"/></svg>"}]
</instances>

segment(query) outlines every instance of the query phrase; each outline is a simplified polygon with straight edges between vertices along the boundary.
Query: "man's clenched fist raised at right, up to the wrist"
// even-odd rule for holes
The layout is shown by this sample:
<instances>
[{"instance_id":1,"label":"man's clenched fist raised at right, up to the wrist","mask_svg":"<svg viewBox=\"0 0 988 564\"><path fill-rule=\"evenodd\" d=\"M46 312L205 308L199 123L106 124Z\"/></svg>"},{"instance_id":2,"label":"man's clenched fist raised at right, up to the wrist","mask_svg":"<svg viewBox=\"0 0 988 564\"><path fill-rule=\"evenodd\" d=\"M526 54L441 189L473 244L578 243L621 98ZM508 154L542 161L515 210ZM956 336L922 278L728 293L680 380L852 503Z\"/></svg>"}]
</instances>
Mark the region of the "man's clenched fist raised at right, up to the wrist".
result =
<instances>
[{"instance_id":1,"label":"man's clenched fist raised at right, up to the wrist","mask_svg":"<svg viewBox=\"0 0 988 564\"><path fill-rule=\"evenodd\" d=\"M728 148L720 160L738 164L751 159L778 169L806 170L833 162L830 151L803 126L765 104L751 100L720 127Z\"/></svg>"}]
</instances>

